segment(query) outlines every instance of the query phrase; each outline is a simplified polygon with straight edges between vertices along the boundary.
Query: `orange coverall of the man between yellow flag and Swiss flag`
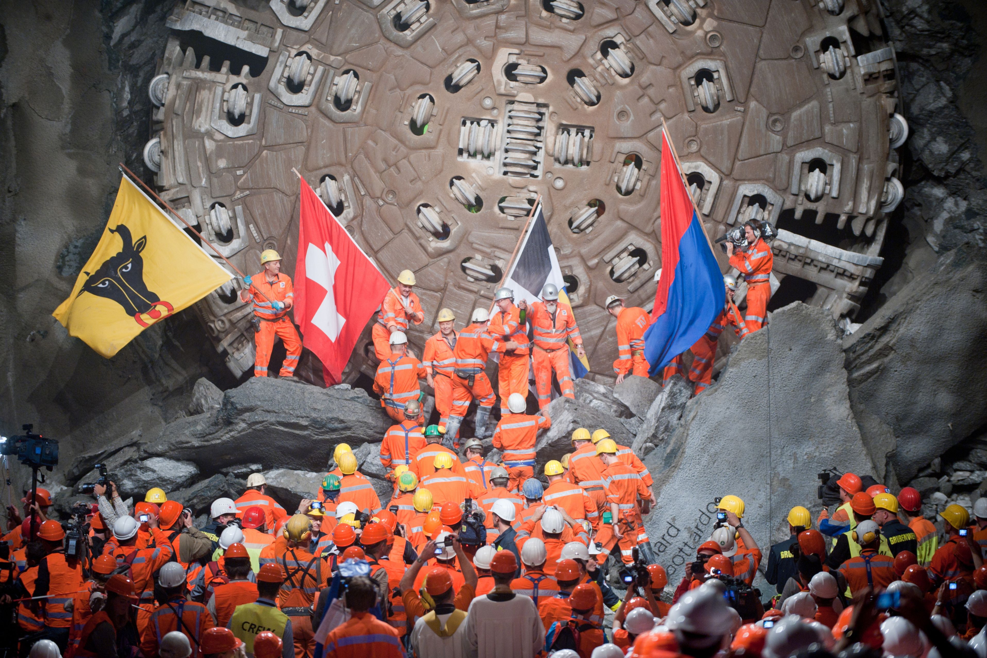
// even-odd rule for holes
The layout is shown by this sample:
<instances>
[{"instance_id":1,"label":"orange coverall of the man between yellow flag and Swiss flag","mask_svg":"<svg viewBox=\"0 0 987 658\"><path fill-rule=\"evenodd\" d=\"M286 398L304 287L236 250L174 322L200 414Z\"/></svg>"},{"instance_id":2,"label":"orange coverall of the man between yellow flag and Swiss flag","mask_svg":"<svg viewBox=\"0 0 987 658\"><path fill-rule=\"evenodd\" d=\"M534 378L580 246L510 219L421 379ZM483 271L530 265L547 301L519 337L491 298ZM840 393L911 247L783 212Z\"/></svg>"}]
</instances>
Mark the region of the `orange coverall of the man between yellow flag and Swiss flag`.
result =
<instances>
[{"instance_id":1,"label":"orange coverall of the man between yellow flag and Swiss flag","mask_svg":"<svg viewBox=\"0 0 987 658\"><path fill-rule=\"evenodd\" d=\"M261 318L261 329L254 335L257 347L254 376L267 376L267 362L270 361L270 351L274 347L274 336L278 336L287 352L278 376L290 377L298 367L298 358L302 356L302 339L298 337L295 325L287 318L288 311L282 309L277 312L270 302L283 303L288 299L294 302L295 288L291 286L291 277L278 273L275 281L268 282L266 272L256 274L251 277L251 286L246 290L245 296L248 301L254 302L254 314Z\"/></svg>"}]
</instances>

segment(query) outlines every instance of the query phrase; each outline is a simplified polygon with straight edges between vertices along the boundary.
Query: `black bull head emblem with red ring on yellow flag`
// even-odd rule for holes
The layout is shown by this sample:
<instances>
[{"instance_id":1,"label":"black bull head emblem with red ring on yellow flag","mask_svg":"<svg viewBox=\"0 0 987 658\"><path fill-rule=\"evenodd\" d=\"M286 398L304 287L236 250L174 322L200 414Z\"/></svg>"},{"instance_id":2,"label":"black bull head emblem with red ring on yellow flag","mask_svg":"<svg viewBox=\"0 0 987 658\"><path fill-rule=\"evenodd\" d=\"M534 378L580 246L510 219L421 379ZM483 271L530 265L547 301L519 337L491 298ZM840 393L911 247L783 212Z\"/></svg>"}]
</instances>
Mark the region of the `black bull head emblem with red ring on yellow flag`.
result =
<instances>
[{"instance_id":1,"label":"black bull head emblem with red ring on yellow flag","mask_svg":"<svg viewBox=\"0 0 987 658\"><path fill-rule=\"evenodd\" d=\"M148 326L141 316L147 315L157 320L162 315L170 315L174 310L167 301L161 301L157 294L147 289L144 283L144 260L140 252L147 246L147 236L138 238L136 242L130 237L130 229L123 224L110 229L123 241L123 248L118 254L111 256L93 274L89 275L86 283L79 290L101 297L113 299L123 307L123 311L133 317L142 326ZM162 313L156 307L161 306L167 312Z\"/></svg>"}]
</instances>

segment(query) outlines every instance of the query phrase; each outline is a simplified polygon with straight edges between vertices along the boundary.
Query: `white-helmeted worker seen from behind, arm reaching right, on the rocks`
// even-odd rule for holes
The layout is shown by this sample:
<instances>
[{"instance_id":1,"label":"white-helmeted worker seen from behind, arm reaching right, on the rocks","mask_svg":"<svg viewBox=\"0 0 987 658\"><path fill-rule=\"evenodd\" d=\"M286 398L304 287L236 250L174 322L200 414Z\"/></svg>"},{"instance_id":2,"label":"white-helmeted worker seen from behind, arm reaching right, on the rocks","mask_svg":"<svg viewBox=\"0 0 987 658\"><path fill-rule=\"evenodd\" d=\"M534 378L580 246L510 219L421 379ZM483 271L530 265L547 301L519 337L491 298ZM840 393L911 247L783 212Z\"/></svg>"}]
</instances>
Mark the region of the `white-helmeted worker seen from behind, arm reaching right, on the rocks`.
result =
<instances>
[{"instance_id":1,"label":"white-helmeted worker seen from behind, arm reaching right, on the rocks","mask_svg":"<svg viewBox=\"0 0 987 658\"><path fill-rule=\"evenodd\" d=\"M445 426L445 445L454 447L454 440L459 433L459 426L466 417L470 402L477 400L476 430L477 439L486 439L487 419L496 396L493 395L491 380L487 378L484 368L491 352L505 352L514 349L517 344L512 342L500 343L494 341L487 332L490 314L487 309L477 308L473 311L472 323L459 332L456 347L452 353L456 357L456 370L452 375L452 411L449 412L449 422Z\"/></svg>"}]
</instances>

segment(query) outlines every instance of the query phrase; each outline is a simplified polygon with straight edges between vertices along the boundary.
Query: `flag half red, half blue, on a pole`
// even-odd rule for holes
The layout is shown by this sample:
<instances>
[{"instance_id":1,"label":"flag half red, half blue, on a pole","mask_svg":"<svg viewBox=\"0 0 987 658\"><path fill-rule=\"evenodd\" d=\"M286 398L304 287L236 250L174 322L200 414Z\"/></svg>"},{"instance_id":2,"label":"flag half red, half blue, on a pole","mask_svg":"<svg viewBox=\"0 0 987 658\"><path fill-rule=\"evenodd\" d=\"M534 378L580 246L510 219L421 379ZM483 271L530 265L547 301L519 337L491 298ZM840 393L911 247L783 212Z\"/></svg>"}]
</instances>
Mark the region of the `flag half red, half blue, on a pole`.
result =
<instances>
[{"instance_id":1,"label":"flag half red, half blue, on a pole","mask_svg":"<svg viewBox=\"0 0 987 658\"><path fill-rule=\"evenodd\" d=\"M662 132L661 278L645 331L648 371L657 373L692 347L717 319L725 297L720 265Z\"/></svg>"}]
</instances>

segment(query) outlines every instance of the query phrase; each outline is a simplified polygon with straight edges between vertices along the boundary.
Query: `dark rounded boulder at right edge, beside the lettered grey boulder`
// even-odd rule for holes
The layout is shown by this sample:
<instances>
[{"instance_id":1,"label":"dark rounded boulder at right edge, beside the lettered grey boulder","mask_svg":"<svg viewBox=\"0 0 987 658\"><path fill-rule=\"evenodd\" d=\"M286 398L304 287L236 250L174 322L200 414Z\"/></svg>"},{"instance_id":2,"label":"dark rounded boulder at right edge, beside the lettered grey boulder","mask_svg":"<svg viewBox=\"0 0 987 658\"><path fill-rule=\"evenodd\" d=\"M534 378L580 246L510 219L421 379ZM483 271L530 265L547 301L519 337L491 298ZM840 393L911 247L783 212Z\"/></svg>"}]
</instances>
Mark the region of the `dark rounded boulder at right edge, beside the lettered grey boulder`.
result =
<instances>
[{"instance_id":1,"label":"dark rounded boulder at right edge, beside the lettered grey boulder","mask_svg":"<svg viewBox=\"0 0 987 658\"><path fill-rule=\"evenodd\" d=\"M987 252L962 246L844 340L864 440L901 482L987 423L984 289Z\"/></svg>"}]
</instances>

